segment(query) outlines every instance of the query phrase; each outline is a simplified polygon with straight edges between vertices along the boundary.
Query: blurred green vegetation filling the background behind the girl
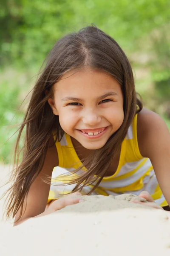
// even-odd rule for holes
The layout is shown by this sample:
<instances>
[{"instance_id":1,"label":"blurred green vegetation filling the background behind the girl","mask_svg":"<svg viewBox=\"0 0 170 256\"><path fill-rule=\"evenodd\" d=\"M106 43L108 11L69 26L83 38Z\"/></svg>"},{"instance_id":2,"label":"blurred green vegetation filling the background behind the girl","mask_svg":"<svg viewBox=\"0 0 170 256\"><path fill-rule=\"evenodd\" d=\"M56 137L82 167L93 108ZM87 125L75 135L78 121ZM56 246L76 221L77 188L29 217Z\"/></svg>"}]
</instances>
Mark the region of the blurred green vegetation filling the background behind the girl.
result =
<instances>
[{"instance_id":1,"label":"blurred green vegetation filling the background behind the girl","mask_svg":"<svg viewBox=\"0 0 170 256\"><path fill-rule=\"evenodd\" d=\"M170 127L169 10L169 0L1 0L0 161L10 160L12 125L23 118L29 96L20 105L45 56L61 36L91 23L124 49L144 106Z\"/></svg>"}]
</instances>

